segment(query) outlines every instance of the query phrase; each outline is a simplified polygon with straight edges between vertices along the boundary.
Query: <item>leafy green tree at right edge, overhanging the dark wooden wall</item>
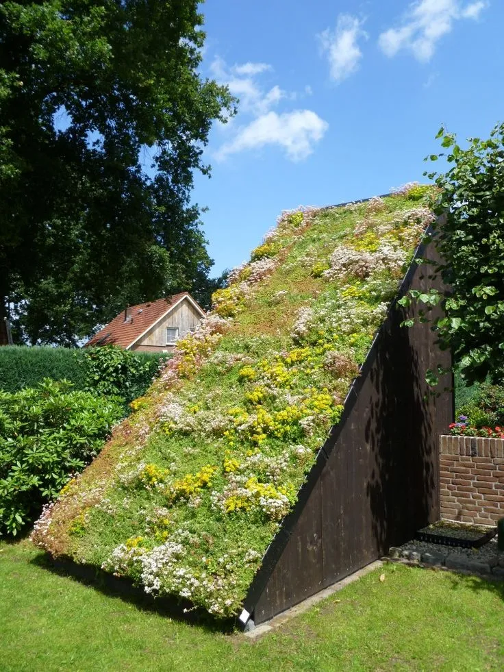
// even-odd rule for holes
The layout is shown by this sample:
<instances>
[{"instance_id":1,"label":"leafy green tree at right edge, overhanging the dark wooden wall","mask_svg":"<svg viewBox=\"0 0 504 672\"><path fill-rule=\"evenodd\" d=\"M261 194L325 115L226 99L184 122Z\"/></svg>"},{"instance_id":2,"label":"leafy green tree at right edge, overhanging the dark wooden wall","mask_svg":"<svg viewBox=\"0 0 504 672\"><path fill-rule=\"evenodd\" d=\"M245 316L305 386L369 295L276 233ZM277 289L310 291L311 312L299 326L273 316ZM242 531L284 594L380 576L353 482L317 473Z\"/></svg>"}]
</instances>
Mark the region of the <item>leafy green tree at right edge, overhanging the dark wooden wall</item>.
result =
<instances>
[{"instance_id":1,"label":"leafy green tree at right edge, overhanging the dark wooden wall","mask_svg":"<svg viewBox=\"0 0 504 672\"><path fill-rule=\"evenodd\" d=\"M427 306L442 303L445 315L433 323L443 348L451 348L467 382L504 377L504 124L488 140L470 138L462 149L456 137L440 129L446 173L425 173L436 180L436 205L443 215L436 246L450 290L413 298ZM438 160L444 153L430 156ZM418 293L417 293L418 294ZM407 303L409 298L405 299Z\"/></svg>"}]
</instances>

